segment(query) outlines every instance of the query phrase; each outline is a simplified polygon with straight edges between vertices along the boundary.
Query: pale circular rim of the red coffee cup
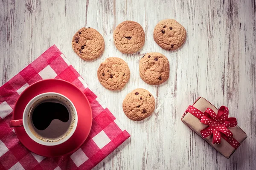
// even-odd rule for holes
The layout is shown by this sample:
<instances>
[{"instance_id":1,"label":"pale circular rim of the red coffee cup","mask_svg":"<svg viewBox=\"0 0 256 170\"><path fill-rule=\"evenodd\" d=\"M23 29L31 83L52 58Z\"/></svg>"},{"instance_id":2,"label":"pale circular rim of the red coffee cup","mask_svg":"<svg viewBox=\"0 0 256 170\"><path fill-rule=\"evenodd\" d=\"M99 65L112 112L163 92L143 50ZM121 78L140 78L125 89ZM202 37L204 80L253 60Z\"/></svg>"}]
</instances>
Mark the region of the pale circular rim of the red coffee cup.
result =
<instances>
[{"instance_id":1,"label":"pale circular rim of the red coffee cup","mask_svg":"<svg viewBox=\"0 0 256 170\"><path fill-rule=\"evenodd\" d=\"M32 104L34 104L34 102L44 96L50 96L50 95L55 95L55 96L61 96L64 99L66 99L68 102L70 102L71 106L73 107L74 110L74 116L75 116L75 122L74 122L74 126L73 129L71 130L71 132L67 135L67 137L65 137L64 139L57 141L57 142L45 142L42 141L40 139L38 139L35 135L32 134L31 130L28 127L28 123L27 123L27 115L28 115L28 109L32 106ZM55 92L47 92L47 93L42 93L39 94L37 96L35 96L34 98L32 98L28 104L26 105L24 111L23 111L23 127L27 133L27 135L29 136L30 139L32 139L33 141L37 142L38 144L42 144L45 146L56 146L58 144L62 144L64 142L66 142L68 139L70 139L70 137L74 134L74 132L76 131L76 127L77 127L77 123L78 123L78 115L77 115L77 111L76 111L76 107L73 104L73 102L67 98L66 96L59 94L59 93L55 93Z\"/></svg>"}]
</instances>

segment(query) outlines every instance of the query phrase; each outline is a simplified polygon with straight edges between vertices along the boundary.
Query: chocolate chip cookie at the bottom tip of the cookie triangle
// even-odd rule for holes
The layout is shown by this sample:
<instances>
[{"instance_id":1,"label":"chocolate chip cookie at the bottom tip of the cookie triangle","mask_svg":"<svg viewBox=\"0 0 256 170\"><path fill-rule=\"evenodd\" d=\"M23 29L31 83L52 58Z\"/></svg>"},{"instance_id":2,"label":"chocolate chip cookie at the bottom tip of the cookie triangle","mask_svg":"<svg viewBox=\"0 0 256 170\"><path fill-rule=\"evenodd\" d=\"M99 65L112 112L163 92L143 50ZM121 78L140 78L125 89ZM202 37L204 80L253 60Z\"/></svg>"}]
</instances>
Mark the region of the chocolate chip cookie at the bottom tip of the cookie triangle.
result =
<instances>
[{"instance_id":1,"label":"chocolate chip cookie at the bottom tip of the cookie triangle","mask_svg":"<svg viewBox=\"0 0 256 170\"><path fill-rule=\"evenodd\" d=\"M149 91L137 88L127 94L123 103L125 115L135 121L140 121L150 116L155 108L155 99Z\"/></svg>"}]
</instances>

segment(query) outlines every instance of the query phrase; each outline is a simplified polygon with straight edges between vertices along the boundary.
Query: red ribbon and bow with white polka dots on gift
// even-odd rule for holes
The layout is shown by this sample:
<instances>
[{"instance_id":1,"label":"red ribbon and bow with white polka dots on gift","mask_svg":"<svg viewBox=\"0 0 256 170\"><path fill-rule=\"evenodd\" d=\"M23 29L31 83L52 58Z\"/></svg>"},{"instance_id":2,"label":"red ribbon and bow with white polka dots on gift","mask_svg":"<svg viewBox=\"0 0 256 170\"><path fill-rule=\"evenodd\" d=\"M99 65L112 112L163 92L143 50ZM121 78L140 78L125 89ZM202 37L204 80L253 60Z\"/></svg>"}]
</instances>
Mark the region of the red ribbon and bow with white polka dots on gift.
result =
<instances>
[{"instance_id":1,"label":"red ribbon and bow with white polka dots on gift","mask_svg":"<svg viewBox=\"0 0 256 170\"><path fill-rule=\"evenodd\" d=\"M217 114L210 108L203 113L193 106L189 106L186 111L200 119L201 123L208 125L200 131L203 138L213 135L213 144L220 144L222 137L235 149L240 146L240 143L233 138L233 133L227 128L235 127L237 121L234 117L228 117L229 112L226 106L221 106Z\"/></svg>"}]
</instances>

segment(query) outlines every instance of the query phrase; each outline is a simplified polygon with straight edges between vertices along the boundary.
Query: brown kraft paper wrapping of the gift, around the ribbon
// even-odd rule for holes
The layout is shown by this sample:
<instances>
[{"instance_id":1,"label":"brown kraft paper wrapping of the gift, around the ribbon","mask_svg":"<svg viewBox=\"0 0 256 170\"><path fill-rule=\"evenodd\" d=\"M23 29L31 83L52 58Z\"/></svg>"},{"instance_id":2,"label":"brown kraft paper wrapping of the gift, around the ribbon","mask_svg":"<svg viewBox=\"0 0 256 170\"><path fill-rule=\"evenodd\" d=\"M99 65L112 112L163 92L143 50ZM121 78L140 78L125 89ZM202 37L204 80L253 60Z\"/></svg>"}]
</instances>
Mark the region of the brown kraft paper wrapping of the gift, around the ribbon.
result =
<instances>
[{"instance_id":1,"label":"brown kraft paper wrapping of the gift, around the ribbon","mask_svg":"<svg viewBox=\"0 0 256 170\"><path fill-rule=\"evenodd\" d=\"M208 102L203 97L199 97L192 106L194 106L195 108L197 108L203 113L204 111L206 111L207 108L211 108L216 114L218 113L218 109L215 108L215 106L213 106L210 102ZM229 117L232 117L232 116L229 115ZM201 136L200 131L208 126L201 123L200 119L198 119L197 117L195 117L189 112L185 112L181 120L199 136ZM247 138L246 133L239 126L229 127L228 129L233 133L233 137L240 143L240 145L244 141L244 139ZM227 159L229 159L230 156L236 151L236 149L232 147L223 138L221 138L221 144L213 144L212 135L203 139L206 140L210 145L212 145L212 147L214 147L219 153L221 153Z\"/></svg>"}]
</instances>

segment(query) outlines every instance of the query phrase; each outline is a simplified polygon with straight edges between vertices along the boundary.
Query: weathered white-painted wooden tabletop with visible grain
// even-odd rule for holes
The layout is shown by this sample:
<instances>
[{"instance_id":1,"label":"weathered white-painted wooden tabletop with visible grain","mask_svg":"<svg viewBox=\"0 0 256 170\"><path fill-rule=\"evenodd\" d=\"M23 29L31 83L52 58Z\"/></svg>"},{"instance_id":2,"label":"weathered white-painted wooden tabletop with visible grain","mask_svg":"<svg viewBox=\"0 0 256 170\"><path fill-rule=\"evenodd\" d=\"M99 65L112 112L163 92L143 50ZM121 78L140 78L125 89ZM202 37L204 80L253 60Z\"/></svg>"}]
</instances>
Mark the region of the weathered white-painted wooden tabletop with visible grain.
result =
<instances>
[{"instance_id":1,"label":"weathered white-painted wooden tabletop with visible grain","mask_svg":"<svg viewBox=\"0 0 256 170\"><path fill-rule=\"evenodd\" d=\"M153 40L154 26L166 18L186 28L186 42L177 51L163 50ZM145 30L145 45L135 54L122 54L113 43L114 28L125 20ZM103 56L93 62L80 59L71 47L73 34L84 26L105 39ZM255 0L0 1L0 85L53 44L131 134L94 169L256 169ZM152 51L170 62L169 80L158 86L139 75L140 58ZM108 57L128 62L131 78L122 91L109 91L97 79L98 66ZM122 100L135 88L147 89L156 99L155 113L141 122L122 111ZM198 96L230 108L230 116L247 133L230 159L181 122Z\"/></svg>"}]
</instances>

